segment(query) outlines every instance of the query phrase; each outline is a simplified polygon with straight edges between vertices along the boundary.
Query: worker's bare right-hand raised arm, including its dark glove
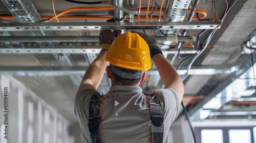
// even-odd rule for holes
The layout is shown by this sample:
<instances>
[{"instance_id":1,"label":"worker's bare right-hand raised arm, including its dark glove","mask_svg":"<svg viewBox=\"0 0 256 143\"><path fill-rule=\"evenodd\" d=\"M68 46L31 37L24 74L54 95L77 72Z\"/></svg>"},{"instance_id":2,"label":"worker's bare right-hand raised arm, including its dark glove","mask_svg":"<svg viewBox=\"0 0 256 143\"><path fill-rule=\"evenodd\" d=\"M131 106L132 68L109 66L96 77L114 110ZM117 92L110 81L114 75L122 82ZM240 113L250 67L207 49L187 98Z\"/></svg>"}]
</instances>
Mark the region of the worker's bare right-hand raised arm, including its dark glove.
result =
<instances>
[{"instance_id":1,"label":"worker's bare right-hand raised arm, including its dark glove","mask_svg":"<svg viewBox=\"0 0 256 143\"><path fill-rule=\"evenodd\" d=\"M133 32L138 33L147 42L148 47L150 48L151 58L156 65L163 85L165 88L174 89L178 93L179 99L181 101L184 93L183 82L181 81L181 78L174 66L170 64L167 59L165 59L157 40L150 35L135 31Z\"/></svg>"}]
</instances>

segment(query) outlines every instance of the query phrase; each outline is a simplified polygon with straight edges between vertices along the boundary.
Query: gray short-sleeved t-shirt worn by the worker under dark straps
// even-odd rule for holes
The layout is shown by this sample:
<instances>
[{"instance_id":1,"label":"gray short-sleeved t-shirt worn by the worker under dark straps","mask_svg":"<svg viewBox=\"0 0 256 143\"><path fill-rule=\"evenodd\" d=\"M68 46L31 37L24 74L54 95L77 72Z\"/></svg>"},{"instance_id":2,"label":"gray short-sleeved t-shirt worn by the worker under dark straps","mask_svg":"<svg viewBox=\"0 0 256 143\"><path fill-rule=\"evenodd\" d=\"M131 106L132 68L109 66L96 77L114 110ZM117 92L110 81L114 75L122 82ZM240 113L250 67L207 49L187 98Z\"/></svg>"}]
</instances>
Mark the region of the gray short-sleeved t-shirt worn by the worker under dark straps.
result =
<instances>
[{"instance_id":1,"label":"gray short-sleeved t-shirt worn by the worker under dark straps","mask_svg":"<svg viewBox=\"0 0 256 143\"><path fill-rule=\"evenodd\" d=\"M170 88L154 92L164 109L163 142L166 142L170 125L178 116L179 99ZM92 88L84 88L78 90L75 97L82 143L91 142L88 121L93 93L99 94ZM105 94L102 106L100 127L104 142L148 142L151 119L140 87L114 85Z\"/></svg>"}]
</instances>

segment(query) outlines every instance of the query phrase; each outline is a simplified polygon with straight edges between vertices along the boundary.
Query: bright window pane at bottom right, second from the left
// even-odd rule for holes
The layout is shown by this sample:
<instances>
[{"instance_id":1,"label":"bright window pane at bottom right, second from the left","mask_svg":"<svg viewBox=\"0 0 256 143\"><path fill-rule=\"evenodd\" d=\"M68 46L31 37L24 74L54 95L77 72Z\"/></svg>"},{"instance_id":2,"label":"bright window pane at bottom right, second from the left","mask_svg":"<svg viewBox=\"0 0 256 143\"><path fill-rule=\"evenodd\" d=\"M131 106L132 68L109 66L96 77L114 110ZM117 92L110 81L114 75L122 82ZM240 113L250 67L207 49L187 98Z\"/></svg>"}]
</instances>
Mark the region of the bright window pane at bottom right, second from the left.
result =
<instances>
[{"instance_id":1,"label":"bright window pane at bottom right, second from the left","mask_svg":"<svg viewBox=\"0 0 256 143\"><path fill-rule=\"evenodd\" d=\"M251 143L250 130L229 130L228 134L230 143Z\"/></svg>"}]
</instances>

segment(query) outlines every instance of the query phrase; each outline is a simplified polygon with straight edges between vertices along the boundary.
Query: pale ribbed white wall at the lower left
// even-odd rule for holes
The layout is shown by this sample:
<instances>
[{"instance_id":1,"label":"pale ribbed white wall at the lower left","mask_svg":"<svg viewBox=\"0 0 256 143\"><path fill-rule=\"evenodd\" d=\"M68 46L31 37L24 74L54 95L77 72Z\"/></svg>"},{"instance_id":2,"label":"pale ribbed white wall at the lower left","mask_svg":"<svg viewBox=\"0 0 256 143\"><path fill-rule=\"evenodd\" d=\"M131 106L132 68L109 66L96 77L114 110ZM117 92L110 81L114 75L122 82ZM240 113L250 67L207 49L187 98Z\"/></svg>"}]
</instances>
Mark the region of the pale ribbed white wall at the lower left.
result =
<instances>
[{"instance_id":1,"label":"pale ribbed white wall at the lower left","mask_svg":"<svg viewBox=\"0 0 256 143\"><path fill-rule=\"evenodd\" d=\"M5 87L9 112L4 112ZM8 139L4 113L8 113ZM0 143L74 143L66 118L11 76L0 76L0 128Z\"/></svg>"}]
</instances>

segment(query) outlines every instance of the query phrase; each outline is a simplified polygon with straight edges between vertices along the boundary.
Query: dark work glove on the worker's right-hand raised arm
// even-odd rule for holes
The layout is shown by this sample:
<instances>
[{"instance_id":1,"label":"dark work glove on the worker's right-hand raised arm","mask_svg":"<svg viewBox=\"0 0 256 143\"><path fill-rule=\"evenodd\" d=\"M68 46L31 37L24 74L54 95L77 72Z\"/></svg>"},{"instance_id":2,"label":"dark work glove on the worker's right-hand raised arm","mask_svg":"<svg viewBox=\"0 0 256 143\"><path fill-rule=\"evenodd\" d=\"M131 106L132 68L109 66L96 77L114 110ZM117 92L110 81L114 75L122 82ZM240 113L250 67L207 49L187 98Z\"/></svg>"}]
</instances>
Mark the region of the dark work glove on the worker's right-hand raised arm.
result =
<instances>
[{"instance_id":1,"label":"dark work glove on the worker's right-hand raised arm","mask_svg":"<svg viewBox=\"0 0 256 143\"><path fill-rule=\"evenodd\" d=\"M156 55L159 55L159 54L163 55L162 50L159 47L158 42L154 37L141 32L137 32L137 31L131 31L131 32L139 34L140 37L142 37L146 41L148 47L150 48L151 59L153 59Z\"/></svg>"}]
</instances>

